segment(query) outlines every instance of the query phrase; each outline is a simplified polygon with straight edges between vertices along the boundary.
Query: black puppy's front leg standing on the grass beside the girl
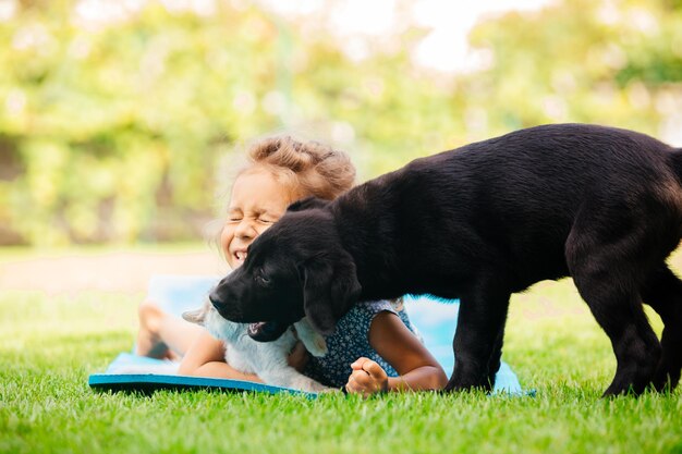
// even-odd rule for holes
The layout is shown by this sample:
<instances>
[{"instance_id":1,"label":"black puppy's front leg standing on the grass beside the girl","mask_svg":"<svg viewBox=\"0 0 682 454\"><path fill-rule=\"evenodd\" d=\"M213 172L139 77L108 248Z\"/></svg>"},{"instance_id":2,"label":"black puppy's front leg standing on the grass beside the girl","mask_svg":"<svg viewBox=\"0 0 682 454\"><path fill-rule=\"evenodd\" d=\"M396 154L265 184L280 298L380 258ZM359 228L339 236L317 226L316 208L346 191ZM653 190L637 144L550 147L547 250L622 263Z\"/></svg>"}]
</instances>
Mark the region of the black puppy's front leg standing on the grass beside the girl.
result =
<instances>
[{"instance_id":1,"label":"black puppy's front leg standing on the grass beside the girl","mask_svg":"<svg viewBox=\"0 0 682 454\"><path fill-rule=\"evenodd\" d=\"M499 274L482 277L461 296L452 342L455 364L446 391L492 389L511 296L500 282Z\"/></svg>"}]
</instances>

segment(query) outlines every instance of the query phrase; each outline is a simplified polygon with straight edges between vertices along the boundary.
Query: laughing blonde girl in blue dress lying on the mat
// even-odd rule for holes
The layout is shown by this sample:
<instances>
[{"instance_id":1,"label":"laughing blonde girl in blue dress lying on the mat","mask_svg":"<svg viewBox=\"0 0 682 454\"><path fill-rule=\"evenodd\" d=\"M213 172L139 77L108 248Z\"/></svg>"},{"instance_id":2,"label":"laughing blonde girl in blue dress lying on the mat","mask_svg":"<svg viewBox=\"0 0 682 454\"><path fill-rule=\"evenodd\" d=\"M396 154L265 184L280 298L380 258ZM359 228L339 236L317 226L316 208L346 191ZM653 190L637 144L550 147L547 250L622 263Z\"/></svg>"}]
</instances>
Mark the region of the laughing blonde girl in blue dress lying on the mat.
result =
<instances>
[{"instance_id":1,"label":"laughing blonde girl in blue dress lying on the mat","mask_svg":"<svg viewBox=\"0 0 682 454\"><path fill-rule=\"evenodd\" d=\"M355 169L349 158L314 142L290 137L255 144L249 165L234 181L220 246L234 269L254 240L303 197L332 199L349 189ZM260 381L224 361L224 345L203 328L163 312L154 302L139 308L137 354L182 356L179 373ZM410 328L409 328L410 327ZM357 304L327 338L324 358L295 348L290 364L330 386L367 396L383 391L436 390L447 383L438 361L411 330L404 310L389 302ZM349 370L350 367L350 370ZM349 375L350 371L350 375Z\"/></svg>"}]
</instances>

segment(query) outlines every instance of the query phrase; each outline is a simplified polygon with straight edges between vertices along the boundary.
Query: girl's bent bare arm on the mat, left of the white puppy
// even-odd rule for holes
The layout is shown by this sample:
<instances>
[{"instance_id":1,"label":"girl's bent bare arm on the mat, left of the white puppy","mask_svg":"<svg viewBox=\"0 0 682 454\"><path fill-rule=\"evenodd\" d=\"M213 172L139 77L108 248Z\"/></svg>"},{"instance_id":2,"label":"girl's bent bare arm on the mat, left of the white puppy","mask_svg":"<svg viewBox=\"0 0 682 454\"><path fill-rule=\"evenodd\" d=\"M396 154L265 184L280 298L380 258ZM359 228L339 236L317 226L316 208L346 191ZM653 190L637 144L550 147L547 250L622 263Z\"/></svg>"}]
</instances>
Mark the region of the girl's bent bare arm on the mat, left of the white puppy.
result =
<instances>
[{"instance_id":1,"label":"girl's bent bare arm on the mat, left of the white puppy","mask_svg":"<svg viewBox=\"0 0 682 454\"><path fill-rule=\"evenodd\" d=\"M224 344L204 331L182 358L178 373L181 376L228 378L233 380L263 380L253 373L243 373L232 368L224 360Z\"/></svg>"}]
</instances>

